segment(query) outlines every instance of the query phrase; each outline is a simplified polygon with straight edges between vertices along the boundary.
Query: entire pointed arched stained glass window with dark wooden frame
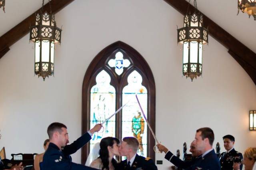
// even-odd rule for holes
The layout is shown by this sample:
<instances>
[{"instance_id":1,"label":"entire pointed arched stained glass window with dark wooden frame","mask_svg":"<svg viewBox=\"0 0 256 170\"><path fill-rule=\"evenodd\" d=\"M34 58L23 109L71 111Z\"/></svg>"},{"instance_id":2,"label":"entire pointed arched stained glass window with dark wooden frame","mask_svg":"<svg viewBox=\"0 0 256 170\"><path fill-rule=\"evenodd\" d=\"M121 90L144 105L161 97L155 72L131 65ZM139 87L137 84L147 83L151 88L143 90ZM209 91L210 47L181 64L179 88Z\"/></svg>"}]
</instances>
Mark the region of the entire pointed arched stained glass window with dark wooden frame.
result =
<instances>
[{"instance_id":1,"label":"entire pointed arched stained glass window with dark wooden frame","mask_svg":"<svg viewBox=\"0 0 256 170\"><path fill-rule=\"evenodd\" d=\"M104 48L90 63L82 87L82 133L104 121L128 100L120 113L104 124L82 148L82 164L96 142L106 136L122 140L134 136L140 142L138 154L155 158L154 138L148 130L140 107L155 130L155 83L148 63L135 49L123 42Z\"/></svg>"}]
</instances>

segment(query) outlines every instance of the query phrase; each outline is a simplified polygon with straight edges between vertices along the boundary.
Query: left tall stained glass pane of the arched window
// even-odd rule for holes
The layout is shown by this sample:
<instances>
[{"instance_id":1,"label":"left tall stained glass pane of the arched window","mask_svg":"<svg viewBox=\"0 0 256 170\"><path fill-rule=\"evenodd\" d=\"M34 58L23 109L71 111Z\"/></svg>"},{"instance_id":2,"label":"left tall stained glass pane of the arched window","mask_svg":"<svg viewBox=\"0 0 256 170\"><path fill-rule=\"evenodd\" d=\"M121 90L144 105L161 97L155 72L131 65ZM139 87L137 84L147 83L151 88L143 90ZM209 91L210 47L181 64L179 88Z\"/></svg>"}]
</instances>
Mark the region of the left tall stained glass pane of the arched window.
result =
<instances>
[{"instance_id":1,"label":"left tall stained glass pane of the arched window","mask_svg":"<svg viewBox=\"0 0 256 170\"><path fill-rule=\"evenodd\" d=\"M90 128L101 123L115 112L116 108L116 90L110 85L110 75L104 70L96 76L96 85L91 89L90 102ZM94 144L107 136L115 136L116 118L112 117L104 125L104 131L94 133L90 140L90 149ZM102 131L102 130L101 130Z\"/></svg>"}]
</instances>

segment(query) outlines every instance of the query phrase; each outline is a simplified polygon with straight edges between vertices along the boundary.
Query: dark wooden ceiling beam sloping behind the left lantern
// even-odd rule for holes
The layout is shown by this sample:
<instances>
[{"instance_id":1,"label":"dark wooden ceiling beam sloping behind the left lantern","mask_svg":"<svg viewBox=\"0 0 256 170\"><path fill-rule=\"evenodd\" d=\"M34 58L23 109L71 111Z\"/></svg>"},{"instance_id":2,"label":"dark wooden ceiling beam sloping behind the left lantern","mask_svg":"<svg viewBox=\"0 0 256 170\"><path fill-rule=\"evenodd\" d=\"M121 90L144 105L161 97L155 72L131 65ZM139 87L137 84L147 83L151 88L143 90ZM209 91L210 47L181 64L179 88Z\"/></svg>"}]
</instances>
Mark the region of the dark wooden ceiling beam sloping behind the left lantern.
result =
<instances>
[{"instance_id":1,"label":"dark wooden ceiling beam sloping behind the left lantern","mask_svg":"<svg viewBox=\"0 0 256 170\"><path fill-rule=\"evenodd\" d=\"M68 4L70 4L72 1L74 1L74 0L51 0L50 3L51 3L51 8L52 8L52 13L56 14L62 8L64 8ZM36 12L39 12L40 9L38 9ZM44 5L44 10L50 12L49 3ZM28 16L28 18L26 18L25 20L20 22L14 28L12 28L11 30L9 30L8 32L6 32L4 35L2 35L0 37L0 58L5 54L4 49L6 47L10 47L15 42L17 42L22 37L24 37L26 34L28 34L28 32L30 30L30 26L33 26L35 24L36 12L34 12L30 16ZM57 24L58 24L58 22L57 22Z\"/></svg>"}]
</instances>

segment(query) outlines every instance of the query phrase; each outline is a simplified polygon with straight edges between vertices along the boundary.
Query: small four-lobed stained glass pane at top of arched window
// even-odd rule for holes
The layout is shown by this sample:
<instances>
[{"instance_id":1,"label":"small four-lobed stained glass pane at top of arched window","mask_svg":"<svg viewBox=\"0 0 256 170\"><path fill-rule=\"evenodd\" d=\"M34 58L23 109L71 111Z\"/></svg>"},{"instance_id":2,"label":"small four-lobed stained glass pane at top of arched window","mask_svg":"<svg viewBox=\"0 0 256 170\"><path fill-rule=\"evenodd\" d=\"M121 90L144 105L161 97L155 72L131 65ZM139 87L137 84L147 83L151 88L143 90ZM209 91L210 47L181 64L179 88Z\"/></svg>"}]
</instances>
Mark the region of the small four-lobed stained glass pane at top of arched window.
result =
<instances>
[{"instance_id":1,"label":"small four-lobed stained glass pane at top of arched window","mask_svg":"<svg viewBox=\"0 0 256 170\"><path fill-rule=\"evenodd\" d=\"M128 59L123 59L124 55L122 52L116 53L115 59L110 59L108 65L110 67L115 67L116 74L121 75L124 71L124 67L129 67L131 64Z\"/></svg>"}]
</instances>

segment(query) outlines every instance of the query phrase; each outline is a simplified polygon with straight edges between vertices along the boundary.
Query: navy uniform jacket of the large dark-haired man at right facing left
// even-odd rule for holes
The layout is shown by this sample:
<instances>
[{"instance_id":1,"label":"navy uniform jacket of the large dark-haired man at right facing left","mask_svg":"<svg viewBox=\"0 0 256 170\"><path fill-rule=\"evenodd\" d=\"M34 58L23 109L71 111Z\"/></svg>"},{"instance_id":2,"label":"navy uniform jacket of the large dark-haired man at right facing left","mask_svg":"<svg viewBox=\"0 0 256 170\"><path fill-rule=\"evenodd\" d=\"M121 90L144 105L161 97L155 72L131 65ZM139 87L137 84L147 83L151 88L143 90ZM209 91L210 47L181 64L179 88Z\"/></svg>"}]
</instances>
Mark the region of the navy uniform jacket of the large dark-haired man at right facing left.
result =
<instances>
[{"instance_id":1,"label":"navy uniform jacket of the large dark-haired man at right facing left","mask_svg":"<svg viewBox=\"0 0 256 170\"><path fill-rule=\"evenodd\" d=\"M220 170L220 161L214 150L198 158L192 166L186 170Z\"/></svg>"}]
</instances>

